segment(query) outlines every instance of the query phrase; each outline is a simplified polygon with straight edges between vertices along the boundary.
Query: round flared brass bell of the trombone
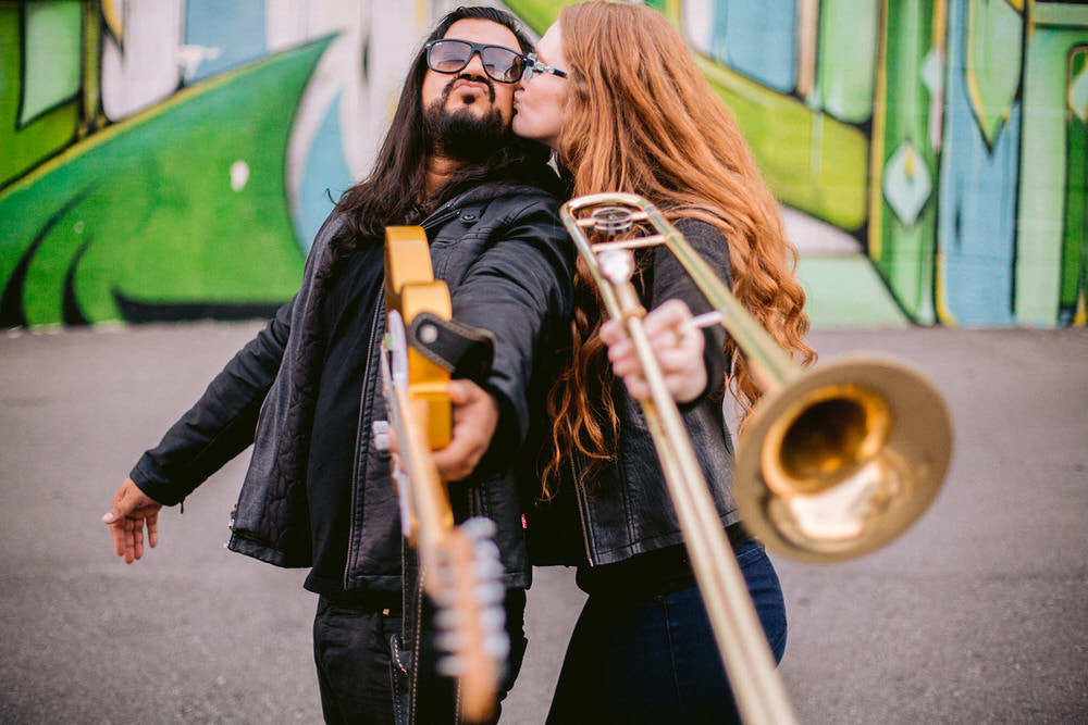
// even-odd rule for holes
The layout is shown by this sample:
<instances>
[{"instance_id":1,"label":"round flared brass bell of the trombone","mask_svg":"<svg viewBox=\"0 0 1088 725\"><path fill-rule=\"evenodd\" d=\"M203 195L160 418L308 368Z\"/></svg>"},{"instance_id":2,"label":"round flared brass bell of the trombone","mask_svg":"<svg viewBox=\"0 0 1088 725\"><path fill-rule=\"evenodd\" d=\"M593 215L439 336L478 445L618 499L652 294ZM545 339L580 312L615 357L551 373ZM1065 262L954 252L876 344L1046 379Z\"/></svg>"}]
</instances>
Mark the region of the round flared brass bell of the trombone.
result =
<instances>
[{"instance_id":1,"label":"round flared brass bell of the trombone","mask_svg":"<svg viewBox=\"0 0 1088 725\"><path fill-rule=\"evenodd\" d=\"M926 511L952 454L934 386L889 360L829 362L765 396L739 442L744 527L793 559L875 551Z\"/></svg>"}]
</instances>

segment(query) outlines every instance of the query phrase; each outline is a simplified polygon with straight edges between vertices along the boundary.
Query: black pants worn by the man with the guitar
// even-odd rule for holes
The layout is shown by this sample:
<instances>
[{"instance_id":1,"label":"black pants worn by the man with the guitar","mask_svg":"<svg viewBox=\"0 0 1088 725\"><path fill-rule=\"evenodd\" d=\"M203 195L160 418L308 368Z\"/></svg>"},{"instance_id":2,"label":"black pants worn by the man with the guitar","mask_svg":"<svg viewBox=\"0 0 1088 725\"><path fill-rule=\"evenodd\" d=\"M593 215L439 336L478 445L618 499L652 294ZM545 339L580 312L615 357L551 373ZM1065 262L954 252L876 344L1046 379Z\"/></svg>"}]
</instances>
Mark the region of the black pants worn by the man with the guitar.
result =
<instances>
[{"instance_id":1,"label":"black pants worn by the man with the guitar","mask_svg":"<svg viewBox=\"0 0 1088 725\"><path fill-rule=\"evenodd\" d=\"M510 660L500 697L505 697L514 686L524 658L528 642L524 609L524 590L508 590L506 628L510 636ZM398 664L407 663L394 660L390 640L393 636L399 638L401 621L398 612L390 610L333 603L324 597L318 600L318 612L313 618L313 661L318 668L321 710L326 723L397 723L393 677L401 677L398 687L403 687L407 675ZM453 722L453 685L438 682L437 675L432 673L424 676L424 682L426 685L420 687L420 697L425 696L426 700L421 707L423 714L419 722L424 722L423 717L428 723Z\"/></svg>"}]
</instances>

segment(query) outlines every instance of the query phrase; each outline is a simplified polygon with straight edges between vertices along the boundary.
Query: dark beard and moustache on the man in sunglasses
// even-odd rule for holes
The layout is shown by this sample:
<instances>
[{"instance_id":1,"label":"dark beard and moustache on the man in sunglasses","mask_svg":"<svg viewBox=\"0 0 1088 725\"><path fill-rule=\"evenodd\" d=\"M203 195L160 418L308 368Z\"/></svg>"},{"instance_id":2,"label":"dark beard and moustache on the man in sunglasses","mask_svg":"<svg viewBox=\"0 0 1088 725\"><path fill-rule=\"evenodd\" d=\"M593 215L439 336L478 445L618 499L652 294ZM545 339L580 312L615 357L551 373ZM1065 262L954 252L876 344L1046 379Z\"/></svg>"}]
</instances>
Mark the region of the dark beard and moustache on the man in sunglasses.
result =
<instances>
[{"instance_id":1,"label":"dark beard and moustache on the man in sunglasses","mask_svg":"<svg viewBox=\"0 0 1088 725\"><path fill-rule=\"evenodd\" d=\"M505 142L509 129L498 109L493 108L482 116L473 113L469 104L447 111L446 102L458 79L450 80L442 97L423 109L423 125L435 153L466 163L480 163ZM495 91L490 84L489 88L494 100Z\"/></svg>"}]
</instances>

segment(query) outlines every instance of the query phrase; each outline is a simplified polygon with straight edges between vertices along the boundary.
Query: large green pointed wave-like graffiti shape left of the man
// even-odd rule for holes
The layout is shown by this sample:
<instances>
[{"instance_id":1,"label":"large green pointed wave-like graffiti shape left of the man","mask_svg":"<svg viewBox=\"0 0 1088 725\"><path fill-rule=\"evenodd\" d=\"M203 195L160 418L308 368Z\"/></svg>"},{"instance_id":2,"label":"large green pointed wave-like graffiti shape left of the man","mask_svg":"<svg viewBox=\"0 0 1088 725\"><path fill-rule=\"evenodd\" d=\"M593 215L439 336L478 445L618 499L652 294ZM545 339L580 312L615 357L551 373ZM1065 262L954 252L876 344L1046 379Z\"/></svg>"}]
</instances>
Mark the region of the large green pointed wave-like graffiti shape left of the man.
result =
<instances>
[{"instance_id":1,"label":"large green pointed wave-like graffiti shape left of the man","mask_svg":"<svg viewBox=\"0 0 1088 725\"><path fill-rule=\"evenodd\" d=\"M186 88L0 192L4 322L289 298L302 263L284 182L290 110L329 42Z\"/></svg>"}]
</instances>

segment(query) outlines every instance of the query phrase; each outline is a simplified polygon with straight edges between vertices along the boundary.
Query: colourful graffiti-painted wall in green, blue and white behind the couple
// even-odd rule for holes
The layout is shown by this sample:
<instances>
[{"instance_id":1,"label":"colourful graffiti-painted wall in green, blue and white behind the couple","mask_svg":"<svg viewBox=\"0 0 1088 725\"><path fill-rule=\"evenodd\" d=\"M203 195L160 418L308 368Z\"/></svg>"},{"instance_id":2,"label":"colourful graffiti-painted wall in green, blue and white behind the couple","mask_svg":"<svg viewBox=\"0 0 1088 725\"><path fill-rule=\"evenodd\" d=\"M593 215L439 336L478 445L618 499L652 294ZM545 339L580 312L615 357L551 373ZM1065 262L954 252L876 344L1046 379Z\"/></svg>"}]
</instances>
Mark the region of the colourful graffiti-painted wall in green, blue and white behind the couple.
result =
<instances>
[{"instance_id":1,"label":"colourful graffiti-painted wall in green, blue and white behind the couple","mask_svg":"<svg viewBox=\"0 0 1088 725\"><path fill-rule=\"evenodd\" d=\"M0 0L0 326L268 314L457 2ZM540 34L567 3L509 0ZM1088 2L650 0L821 326L1085 325Z\"/></svg>"}]
</instances>

